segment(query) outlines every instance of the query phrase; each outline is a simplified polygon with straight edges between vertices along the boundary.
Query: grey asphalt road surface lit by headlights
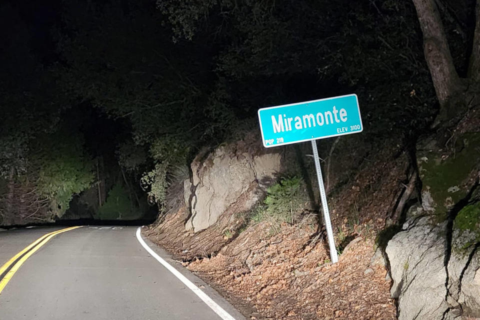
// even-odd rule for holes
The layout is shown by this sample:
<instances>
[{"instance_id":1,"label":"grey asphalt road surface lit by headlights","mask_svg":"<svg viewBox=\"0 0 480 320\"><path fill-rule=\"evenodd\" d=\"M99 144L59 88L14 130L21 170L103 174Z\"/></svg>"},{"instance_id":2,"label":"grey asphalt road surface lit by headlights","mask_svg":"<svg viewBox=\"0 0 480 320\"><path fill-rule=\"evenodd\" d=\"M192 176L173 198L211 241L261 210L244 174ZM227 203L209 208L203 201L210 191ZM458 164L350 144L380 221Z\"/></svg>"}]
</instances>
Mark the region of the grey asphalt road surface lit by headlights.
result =
<instances>
[{"instance_id":1,"label":"grey asphalt road surface lit by headlights","mask_svg":"<svg viewBox=\"0 0 480 320\"><path fill-rule=\"evenodd\" d=\"M59 229L0 231L0 266L38 237ZM0 286L0 319L228 319L221 310L229 319L244 319L207 284L145 240L154 251L147 252L136 230L83 226L39 242L3 289ZM173 271L160 264L156 254L174 266ZM176 270L181 274L175 275ZM190 284L179 279L182 275Z\"/></svg>"}]
</instances>

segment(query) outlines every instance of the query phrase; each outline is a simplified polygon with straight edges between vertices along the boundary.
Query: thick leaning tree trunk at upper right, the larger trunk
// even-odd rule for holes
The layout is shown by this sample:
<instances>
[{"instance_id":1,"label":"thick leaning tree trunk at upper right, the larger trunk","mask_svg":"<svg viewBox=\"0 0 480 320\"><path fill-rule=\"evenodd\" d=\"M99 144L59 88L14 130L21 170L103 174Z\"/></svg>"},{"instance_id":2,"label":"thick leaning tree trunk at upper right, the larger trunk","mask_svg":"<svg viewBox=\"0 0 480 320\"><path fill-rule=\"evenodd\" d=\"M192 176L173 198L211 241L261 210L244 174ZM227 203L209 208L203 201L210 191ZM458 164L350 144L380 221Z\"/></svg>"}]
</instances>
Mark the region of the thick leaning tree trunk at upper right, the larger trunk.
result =
<instances>
[{"instance_id":1,"label":"thick leaning tree trunk at upper right, the larger trunk","mask_svg":"<svg viewBox=\"0 0 480 320\"><path fill-rule=\"evenodd\" d=\"M423 32L423 51L430 70L440 112L446 108L448 99L460 92L462 82L453 65L435 0L412 0Z\"/></svg>"}]
</instances>

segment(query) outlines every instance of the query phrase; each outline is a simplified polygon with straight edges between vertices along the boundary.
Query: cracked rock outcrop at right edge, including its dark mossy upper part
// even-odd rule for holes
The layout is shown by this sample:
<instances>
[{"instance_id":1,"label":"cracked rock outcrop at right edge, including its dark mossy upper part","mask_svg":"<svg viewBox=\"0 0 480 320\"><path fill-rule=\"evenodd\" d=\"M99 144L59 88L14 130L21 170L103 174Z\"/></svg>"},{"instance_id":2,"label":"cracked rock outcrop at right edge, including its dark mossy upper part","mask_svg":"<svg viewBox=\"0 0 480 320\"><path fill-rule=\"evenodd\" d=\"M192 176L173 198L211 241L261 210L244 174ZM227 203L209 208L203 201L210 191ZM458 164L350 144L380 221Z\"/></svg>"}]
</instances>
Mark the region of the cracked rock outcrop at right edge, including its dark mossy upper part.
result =
<instances>
[{"instance_id":1,"label":"cracked rock outcrop at right edge, including its dark mossy upper part","mask_svg":"<svg viewBox=\"0 0 480 320\"><path fill-rule=\"evenodd\" d=\"M469 122L417 145L421 205L386 247L400 320L480 318L480 128Z\"/></svg>"}]
</instances>

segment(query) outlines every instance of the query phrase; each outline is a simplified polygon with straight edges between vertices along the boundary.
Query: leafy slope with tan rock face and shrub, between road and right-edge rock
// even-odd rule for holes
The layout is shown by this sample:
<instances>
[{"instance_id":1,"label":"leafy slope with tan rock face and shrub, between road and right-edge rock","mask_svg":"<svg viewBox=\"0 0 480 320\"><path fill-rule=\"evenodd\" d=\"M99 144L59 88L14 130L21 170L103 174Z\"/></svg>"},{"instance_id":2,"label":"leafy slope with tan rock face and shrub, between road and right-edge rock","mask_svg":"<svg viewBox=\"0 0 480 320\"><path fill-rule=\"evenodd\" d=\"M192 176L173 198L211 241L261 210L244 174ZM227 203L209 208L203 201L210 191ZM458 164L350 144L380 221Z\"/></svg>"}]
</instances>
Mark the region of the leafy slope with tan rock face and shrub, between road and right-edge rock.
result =
<instances>
[{"instance_id":1,"label":"leafy slope with tan rock face and shrub, between road and right-edge rock","mask_svg":"<svg viewBox=\"0 0 480 320\"><path fill-rule=\"evenodd\" d=\"M375 237L404 189L407 157L394 141L333 142L321 141L320 150L329 157L337 264L329 261L309 145L266 150L255 134L198 154L183 205L145 233L252 319L393 319ZM340 157L345 150L355 151Z\"/></svg>"}]
</instances>

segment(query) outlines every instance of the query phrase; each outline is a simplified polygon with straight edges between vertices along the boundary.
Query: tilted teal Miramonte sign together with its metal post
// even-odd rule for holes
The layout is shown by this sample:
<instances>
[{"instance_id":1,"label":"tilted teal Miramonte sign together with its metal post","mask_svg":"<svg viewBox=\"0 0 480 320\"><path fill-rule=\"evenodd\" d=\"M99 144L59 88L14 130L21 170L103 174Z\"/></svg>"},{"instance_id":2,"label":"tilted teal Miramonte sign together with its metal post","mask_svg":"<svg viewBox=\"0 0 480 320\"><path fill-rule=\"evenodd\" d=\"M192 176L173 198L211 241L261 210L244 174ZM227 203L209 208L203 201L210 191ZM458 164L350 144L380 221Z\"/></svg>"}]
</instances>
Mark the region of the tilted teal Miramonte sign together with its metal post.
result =
<instances>
[{"instance_id":1,"label":"tilted teal Miramonte sign together with its metal post","mask_svg":"<svg viewBox=\"0 0 480 320\"><path fill-rule=\"evenodd\" d=\"M316 139L361 132L363 125L358 97L356 94L347 94L261 108L258 109L258 121L263 146L266 148L311 141L331 262L337 262L338 255L333 240L330 213L326 204Z\"/></svg>"}]
</instances>

